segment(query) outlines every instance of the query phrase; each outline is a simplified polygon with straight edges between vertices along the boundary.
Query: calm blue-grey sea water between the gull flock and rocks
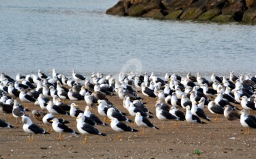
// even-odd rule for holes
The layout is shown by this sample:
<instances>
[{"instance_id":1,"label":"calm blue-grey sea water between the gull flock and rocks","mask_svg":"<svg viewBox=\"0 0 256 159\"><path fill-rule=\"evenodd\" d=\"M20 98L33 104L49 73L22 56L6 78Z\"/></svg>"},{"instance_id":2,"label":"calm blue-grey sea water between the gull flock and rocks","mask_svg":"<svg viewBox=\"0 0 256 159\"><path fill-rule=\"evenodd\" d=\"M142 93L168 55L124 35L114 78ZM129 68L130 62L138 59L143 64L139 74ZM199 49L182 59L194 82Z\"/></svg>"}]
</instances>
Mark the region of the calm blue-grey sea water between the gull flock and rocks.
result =
<instances>
[{"instance_id":1,"label":"calm blue-grey sea water between the gull flock and rocks","mask_svg":"<svg viewBox=\"0 0 256 159\"><path fill-rule=\"evenodd\" d=\"M0 0L0 72L256 72L256 26L109 16L117 0Z\"/></svg>"}]
</instances>

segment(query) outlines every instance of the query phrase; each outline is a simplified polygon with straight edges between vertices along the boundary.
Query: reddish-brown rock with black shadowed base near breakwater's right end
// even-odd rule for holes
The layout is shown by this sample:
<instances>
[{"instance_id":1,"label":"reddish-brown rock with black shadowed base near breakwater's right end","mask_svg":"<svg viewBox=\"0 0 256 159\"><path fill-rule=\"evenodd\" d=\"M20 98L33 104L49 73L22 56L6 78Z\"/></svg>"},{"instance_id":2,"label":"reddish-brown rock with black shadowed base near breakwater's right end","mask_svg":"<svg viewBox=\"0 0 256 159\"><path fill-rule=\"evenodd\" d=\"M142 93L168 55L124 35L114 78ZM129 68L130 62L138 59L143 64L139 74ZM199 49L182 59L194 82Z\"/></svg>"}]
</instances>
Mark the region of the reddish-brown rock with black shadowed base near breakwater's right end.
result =
<instances>
[{"instance_id":1,"label":"reddish-brown rock with black shadowed base near breakwater's right end","mask_svg":"<svg viewBox=\"0 0 256 159\"><path fill-rule=\"evenodd\" d=\"M227 3L222 10L222 14L231 15L236 21L242 20L242 15L246 10L245 1L236 0L232 3Z\"/></svg>"}]
</instances>

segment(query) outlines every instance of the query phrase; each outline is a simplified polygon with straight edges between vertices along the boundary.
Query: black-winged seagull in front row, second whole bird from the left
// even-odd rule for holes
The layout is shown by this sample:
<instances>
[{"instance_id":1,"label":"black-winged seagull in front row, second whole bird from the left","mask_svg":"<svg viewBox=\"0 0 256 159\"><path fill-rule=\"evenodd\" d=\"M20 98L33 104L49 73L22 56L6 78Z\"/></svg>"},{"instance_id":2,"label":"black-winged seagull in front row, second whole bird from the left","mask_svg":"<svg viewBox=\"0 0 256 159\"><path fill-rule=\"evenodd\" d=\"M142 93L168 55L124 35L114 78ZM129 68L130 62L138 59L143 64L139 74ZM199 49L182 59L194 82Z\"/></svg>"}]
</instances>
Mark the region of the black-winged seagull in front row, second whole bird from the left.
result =
<instances>
[{"instance_id":1,"label":"black-winged seagull in front row, second whole bird from the left","mask_svg":"<svg viewBox=\"0 0 256 159\"><path fill-rule=\"evenodd\" d=\"M53 120L51 120L53 122L52 126L53 126L53 130L55 130L55 132L59 132L59 138L58 140L62 139L62 134L63 132L70 132L74 135L79 134L78 132L76 132L75 130L72 130L71 128L69 128L68 126L66 126L63 123L59 122L59 119L54 118Z\"/></svg>"}]
</instances>

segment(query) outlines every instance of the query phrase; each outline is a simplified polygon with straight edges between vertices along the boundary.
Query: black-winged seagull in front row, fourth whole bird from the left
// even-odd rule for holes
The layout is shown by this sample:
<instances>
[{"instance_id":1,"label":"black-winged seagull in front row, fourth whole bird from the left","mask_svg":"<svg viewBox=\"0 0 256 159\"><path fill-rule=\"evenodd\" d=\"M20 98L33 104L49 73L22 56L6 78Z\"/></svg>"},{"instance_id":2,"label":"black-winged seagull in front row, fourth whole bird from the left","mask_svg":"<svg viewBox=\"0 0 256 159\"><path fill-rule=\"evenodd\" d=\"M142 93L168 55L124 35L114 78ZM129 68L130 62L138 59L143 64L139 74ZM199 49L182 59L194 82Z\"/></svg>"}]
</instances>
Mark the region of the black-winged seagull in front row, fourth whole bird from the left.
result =
<instances>
[{"instance_id":1,"label":"black-winged seagull in front row, fourth whole bird from the left","mask_svg":"<svg viewBox=\"0 0 256 159\"><path fill-rule=\"evenodd\" d=\"M118 121L116 118L111 119L111 128L118 132L117 139L121 138L120 132L138 132L138 130L131 128L130 126L127 126L121 121Z\"/></svg>"}]
</instances>

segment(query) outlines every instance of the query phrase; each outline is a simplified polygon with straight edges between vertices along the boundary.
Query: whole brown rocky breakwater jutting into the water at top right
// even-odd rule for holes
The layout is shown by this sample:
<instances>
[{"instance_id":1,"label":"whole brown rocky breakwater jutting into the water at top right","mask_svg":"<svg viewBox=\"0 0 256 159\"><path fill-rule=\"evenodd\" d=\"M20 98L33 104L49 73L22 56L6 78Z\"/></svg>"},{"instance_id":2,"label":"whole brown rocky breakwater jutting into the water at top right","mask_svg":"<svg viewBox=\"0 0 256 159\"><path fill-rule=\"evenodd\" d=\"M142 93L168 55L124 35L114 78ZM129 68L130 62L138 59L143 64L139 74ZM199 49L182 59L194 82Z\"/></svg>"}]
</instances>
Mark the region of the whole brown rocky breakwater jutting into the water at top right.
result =
<instances>
[{"instance_id":1,"label":"whole brown rocky breakwater jutting into the water at top right","mask_svg":"<svg viewBox=\"0 0 256 159\"><path fill-rule=\"evenodd\" d=\"M106 14L256 23L256 0L119 0Z\"/></svg>"}]
</instances>

